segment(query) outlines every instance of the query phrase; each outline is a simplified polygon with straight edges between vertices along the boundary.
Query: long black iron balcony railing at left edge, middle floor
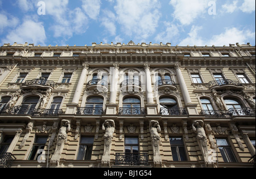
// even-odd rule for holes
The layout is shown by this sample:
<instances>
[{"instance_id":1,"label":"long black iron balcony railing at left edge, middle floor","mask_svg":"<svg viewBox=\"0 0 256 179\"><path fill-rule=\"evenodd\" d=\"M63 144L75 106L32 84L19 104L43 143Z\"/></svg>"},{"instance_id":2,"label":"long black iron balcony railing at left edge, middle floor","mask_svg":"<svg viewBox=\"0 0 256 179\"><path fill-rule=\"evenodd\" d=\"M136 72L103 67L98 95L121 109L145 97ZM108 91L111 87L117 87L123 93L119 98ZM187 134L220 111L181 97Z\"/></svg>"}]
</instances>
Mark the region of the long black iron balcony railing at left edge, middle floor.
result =
<instances>
[{"instance_id":1,"label":"long black iron balcony railing at left edge, middle floor","mask_svg":"<svg viewBox=\"0 0 256 179\"><path fill-rule=\"evenodd\" d=\"M34 107L14 106L3 107L1 115L30 115L30 116L56 116L63 114L63 110L57 109L35 109Z\"/></svg>"}]
</instances>

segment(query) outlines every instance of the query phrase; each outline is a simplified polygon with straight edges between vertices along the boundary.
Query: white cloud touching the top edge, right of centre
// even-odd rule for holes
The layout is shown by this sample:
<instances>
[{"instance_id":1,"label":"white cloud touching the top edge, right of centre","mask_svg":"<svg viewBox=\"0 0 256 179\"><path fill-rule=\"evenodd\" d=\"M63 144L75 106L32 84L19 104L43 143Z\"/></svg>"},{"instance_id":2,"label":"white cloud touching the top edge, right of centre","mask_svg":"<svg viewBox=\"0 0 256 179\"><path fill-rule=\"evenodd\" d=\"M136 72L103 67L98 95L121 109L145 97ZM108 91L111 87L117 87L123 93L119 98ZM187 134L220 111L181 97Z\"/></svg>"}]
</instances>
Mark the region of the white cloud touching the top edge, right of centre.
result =
<instances>
[{"instance_id":1,"label":"white cloud touching the top edge, right of centre","mask_svg":"<svg viewBox=\"0 0 256 179\"><path fill-rule=\"evenodd\" d=\"M183 25L191 24L209 8L207 0L171 0L170 5L174 7L172 15Z\"/></svg>"}]
</instances>

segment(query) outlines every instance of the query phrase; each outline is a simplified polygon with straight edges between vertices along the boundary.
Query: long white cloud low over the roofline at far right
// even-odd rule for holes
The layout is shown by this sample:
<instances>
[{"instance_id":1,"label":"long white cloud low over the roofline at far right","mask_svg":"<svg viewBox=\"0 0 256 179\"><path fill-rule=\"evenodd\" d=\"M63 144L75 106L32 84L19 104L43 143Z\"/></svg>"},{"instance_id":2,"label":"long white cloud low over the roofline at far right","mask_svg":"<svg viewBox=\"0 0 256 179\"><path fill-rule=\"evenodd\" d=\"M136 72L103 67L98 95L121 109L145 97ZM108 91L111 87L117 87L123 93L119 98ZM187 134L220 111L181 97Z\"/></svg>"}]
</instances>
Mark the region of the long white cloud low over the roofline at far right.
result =
<instances>
[{"instance_id":1,"label":"long white cloud low over the roofline at far right","mask_svg":"<svg viewBox=\"0 0 256 179\"><path fill-rule=\"evenodd\" d=\"M248 39L255 39L255 32L252 32L250 30L239 30L238 28L226 28L225 32L222 32L221 34L214 35L212 37L209 37L209 40L201 38L200 31L203 29L203 27L198 26L192 26L191 31L188 34L188 37L181 40L180 44L181 46L187 46L187 45L197 45L197 46L223 46L223 45L229 45L229 44L246 44L250 41L247 41Z\"/></svg>"}]
</instances>

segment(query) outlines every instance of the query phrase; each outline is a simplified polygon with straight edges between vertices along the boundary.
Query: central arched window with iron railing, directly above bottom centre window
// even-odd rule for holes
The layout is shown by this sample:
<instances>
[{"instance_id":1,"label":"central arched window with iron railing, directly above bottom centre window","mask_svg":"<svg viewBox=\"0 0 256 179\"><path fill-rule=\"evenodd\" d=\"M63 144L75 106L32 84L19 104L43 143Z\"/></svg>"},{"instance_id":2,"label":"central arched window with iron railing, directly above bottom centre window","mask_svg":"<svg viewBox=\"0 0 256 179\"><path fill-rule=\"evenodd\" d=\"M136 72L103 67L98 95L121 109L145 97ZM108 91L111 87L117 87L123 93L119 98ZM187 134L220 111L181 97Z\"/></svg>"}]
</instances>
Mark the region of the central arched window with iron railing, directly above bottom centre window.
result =
<instances>
[{"instance_id":1,"label":"central arched window with iron railing, directly above bottom centre window","mask_svg":"<svg viewBox=\"0 0 256 179\"><path fill-rule=\"evenodd\" d=\"M144 114L141 108L141 100L136 97L128 97L123 99L123 107L120 109L122 115L139 115Z\"/></svg>"}]
</instances>

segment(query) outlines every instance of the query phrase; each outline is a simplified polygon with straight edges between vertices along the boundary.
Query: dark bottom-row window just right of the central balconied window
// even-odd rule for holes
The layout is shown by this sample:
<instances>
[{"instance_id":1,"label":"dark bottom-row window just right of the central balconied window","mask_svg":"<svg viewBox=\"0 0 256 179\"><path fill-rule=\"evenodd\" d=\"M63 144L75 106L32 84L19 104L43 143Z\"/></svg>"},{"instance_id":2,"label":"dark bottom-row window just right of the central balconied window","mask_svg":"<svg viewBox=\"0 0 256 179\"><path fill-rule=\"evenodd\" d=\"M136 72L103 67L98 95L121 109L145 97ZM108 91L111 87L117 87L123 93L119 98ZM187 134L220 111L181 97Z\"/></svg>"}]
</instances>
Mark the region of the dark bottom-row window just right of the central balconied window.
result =
<instances>
[{"instance_id":1,"label":"dark bottom-row window just right of the central balconied window","mask_svg":"<svg viewBox=\"0 0 256 179\"><path fill-rule=\"evenodd\" d=\"M170 138L172 159L174 161L187 161L185 147L182 138Z\"/></svg>"}]
</instances>

